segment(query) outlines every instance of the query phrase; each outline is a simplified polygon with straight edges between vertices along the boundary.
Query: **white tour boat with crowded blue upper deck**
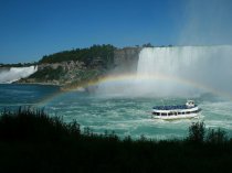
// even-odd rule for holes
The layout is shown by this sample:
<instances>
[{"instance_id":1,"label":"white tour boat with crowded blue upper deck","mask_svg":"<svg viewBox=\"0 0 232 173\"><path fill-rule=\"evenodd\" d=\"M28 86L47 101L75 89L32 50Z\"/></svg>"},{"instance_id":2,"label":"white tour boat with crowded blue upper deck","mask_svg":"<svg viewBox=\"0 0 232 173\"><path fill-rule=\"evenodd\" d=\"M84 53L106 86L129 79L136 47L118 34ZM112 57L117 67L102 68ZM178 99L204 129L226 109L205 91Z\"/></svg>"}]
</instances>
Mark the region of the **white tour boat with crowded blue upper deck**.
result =
<instances>
[{"instance_id":1,"label":"white tour boat with crowded blue upper deck","mask_svg":"<svg viewBox=\"0 0 232 173\"><path fill-rule=\"evenodd\" d=\"M201 109L193 100L188 100L186 105L178 106L155 106L152 108L154 118L172 120L181 118L194 118L199 116Z\"/></svg>"}]
</instances>

